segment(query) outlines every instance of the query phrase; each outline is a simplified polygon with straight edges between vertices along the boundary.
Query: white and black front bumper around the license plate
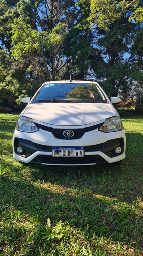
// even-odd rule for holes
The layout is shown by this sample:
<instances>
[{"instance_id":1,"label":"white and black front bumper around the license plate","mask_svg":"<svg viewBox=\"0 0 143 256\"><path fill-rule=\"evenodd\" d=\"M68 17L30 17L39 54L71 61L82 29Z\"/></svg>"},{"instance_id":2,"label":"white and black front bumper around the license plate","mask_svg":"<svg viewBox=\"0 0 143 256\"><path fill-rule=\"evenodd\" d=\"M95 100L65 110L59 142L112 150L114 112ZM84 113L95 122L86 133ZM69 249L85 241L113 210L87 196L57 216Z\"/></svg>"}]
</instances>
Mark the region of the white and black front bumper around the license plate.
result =
<instances>
[{"instance_id":1,"label":"white and black front bumper around the license plate","mask_svg":"<svg viewBox=\"0 0 143 256\"><path fill-rule=\"evenodd\" d=\"M17 153L17 147L23 153ZM84 147L83 157L53 157L53 146ZM115 149L121 147L118 155ZM92 165L113 163L125 158L126 137L124 130L103 133L98 129L85 133L80 139L57 139L51 132L39 129L35 133L15 130L13 134L13 157L21 162L35 162L46 165Z\"/></svg>"}]
</instances>

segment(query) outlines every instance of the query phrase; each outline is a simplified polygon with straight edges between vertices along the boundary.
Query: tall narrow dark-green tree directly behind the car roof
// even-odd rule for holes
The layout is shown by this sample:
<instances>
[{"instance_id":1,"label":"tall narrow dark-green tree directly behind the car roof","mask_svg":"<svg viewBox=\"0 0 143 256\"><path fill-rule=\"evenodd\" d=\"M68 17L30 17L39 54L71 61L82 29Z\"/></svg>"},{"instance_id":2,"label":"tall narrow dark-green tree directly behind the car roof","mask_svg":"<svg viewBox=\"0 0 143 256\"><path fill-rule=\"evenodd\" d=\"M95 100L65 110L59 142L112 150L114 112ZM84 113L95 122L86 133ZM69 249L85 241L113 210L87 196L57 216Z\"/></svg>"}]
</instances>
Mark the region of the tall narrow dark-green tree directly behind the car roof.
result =
<instances>
[{"instance_id":1,"label":"tall narrow dark-green tree directly behind the car roof","mask_svg":"<svg viewBox=\"0 0 143 256\"><path fill-rule=\"evenodd\" d=\"M87 26L88 2L85 6L79 6L79 15L69 29L66 38L65 54L72 60L72 79L84 80L89 79L90 56L93 55L92 33ZM93 79L92 79L93 80Z\"/></svg>"}]
</instances>

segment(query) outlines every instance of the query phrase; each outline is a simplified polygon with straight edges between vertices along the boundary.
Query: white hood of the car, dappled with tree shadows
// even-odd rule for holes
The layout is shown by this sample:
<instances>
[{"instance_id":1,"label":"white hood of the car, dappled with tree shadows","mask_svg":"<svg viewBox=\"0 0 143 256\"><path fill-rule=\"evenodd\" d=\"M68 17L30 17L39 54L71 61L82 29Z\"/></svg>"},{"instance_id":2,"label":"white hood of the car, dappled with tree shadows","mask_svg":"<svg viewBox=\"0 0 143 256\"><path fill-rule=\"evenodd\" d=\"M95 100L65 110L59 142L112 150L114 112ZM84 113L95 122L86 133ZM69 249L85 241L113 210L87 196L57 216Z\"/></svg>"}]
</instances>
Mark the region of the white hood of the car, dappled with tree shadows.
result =
<instances>
[{"instance_id":1,"label":"white hood of the car, dappled with tree shadows","mask_svg":"<svg viewBox=\"0 0 143 256\"><path fill-rule=\"evenodd\" d=\"M38 103L29 104L22 115L51 125L86 125L118 115L111 104L98 103Z\"/></svg>"}]
</instances>

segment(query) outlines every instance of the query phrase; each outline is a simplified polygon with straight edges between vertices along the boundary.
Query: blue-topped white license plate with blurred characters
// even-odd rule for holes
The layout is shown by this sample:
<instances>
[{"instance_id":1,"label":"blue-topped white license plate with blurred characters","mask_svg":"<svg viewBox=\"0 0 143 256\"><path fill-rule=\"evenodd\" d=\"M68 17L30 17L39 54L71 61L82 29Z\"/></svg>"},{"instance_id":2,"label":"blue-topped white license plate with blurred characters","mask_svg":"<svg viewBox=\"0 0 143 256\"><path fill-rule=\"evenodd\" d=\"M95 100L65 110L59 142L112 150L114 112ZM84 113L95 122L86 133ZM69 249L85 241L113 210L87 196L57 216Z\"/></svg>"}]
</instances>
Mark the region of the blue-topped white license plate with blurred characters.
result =
<instances>
[{"instance_id":1,"label":"blue-topped white license plate with blurred characters","mask_svg":"<svg viewBox=\"0 0 143 256\"><path fill-rule=\"evenodd\" d=\"M53 146L52 147L53 157L83 157L84 147L67 147L67 146Z\"/></svg>"}]
</instances>

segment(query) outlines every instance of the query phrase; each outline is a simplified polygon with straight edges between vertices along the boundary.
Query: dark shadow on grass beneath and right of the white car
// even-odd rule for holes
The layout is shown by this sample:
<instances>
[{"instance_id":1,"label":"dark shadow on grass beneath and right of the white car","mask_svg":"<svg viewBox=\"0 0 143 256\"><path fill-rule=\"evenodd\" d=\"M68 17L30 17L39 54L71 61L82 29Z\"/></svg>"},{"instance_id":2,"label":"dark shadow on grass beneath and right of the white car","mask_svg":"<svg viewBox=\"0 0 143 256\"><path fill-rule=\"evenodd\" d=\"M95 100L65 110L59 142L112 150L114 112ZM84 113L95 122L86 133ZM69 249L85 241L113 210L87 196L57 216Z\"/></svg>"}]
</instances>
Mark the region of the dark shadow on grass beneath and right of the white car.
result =
<instances>
[{"instance_id":1,"label":"dark shadow on grass beneath and right of the white car","mask_svg":"<svg viewBox=\"0 0 143 256\"><path fill-rule=\"evenodd\" d=\"M143 197L143 143L141 134L126 134L126 158L119 164L90 166L45 166L30 164L35 181L68 188L89 189L105 197L130 203Z\"/></svg>"}]
</instances>

